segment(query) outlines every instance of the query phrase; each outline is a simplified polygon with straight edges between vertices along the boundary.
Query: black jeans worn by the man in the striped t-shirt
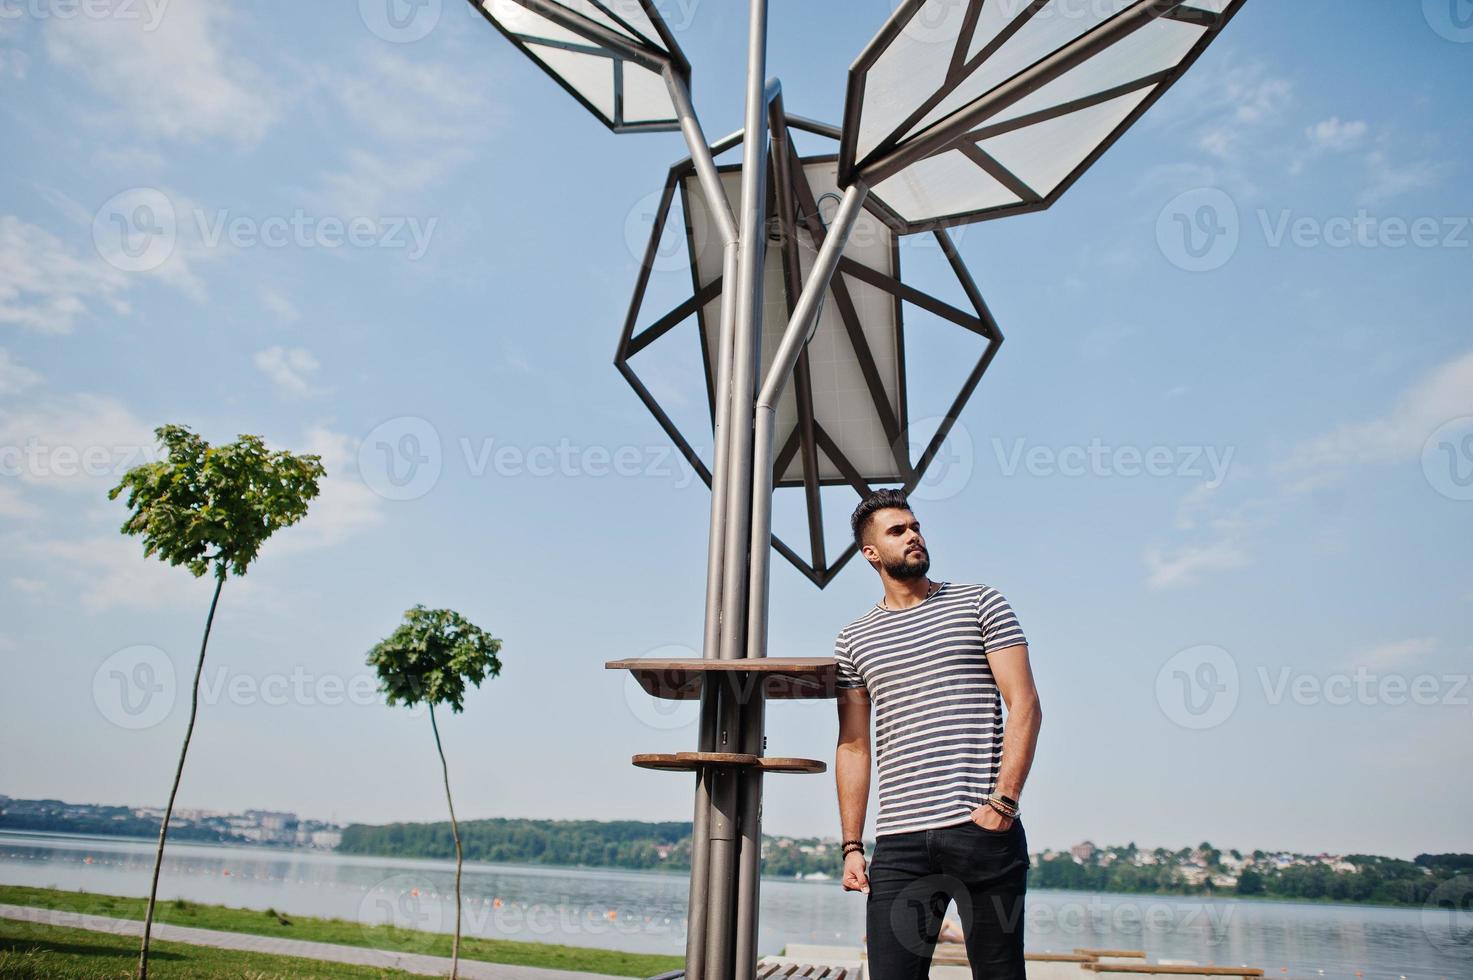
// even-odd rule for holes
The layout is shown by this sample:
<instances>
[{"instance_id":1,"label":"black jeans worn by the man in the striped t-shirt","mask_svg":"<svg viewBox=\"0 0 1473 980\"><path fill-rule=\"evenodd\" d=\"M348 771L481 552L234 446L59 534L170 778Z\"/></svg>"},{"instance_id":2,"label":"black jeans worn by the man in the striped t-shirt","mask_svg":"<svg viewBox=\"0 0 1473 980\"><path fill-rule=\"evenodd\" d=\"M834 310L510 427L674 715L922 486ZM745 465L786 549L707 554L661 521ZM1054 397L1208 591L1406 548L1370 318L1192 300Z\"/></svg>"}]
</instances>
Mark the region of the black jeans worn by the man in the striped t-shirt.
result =
<instances>
[{"instance_id":1,"label":"black jeans worn by the man in the striped t-shirt","mask_svg":"<svg viewBox=\"0 0 1473 980\"><path fill-rule=\"evenodd\" d=\"M865 908L871 980L924 980L956 900L975 980L1024 980L1028 839L1022 822L1002 831L971 818L950 827L875 839Z\"/></svg>"}]
</instances>

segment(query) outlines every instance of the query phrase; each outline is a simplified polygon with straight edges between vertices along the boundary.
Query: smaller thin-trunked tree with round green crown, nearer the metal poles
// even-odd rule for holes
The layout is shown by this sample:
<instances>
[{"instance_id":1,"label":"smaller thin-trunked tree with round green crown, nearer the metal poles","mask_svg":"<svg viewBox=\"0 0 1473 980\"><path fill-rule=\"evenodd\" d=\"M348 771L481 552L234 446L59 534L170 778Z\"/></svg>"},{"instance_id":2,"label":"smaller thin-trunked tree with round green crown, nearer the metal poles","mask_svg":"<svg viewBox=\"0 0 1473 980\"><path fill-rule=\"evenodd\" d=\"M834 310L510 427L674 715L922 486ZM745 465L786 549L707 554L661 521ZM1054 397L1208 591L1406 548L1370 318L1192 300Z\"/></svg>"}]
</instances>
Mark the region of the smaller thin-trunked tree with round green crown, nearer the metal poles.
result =
<instances>
[{"instance_id":1,"label":"smaller thin-trunked tree with round green crown, nearer the metal poles","mask_svg":"<svg viewBox=\"0 0 1473 980\"><path fill-rule=\"evenodd\" d=\"M435 721L435 706L449 704L464 710L465 685L480 682L489 673L501 675L496 653L501 641L470 623L451 609L415 606L404 613L404 622L368 651L368 663L379 672L379 690L389 704L430 709L430 729L435 750L440 755L440 777L445 781L445 803L451 811L451 837L455 839L455 940L451 946L451 979L460 970L461 920L461 843L455 821L455 800L451 799L451 771L445 763L440 727Z\"/></svg>"}]
</instances>

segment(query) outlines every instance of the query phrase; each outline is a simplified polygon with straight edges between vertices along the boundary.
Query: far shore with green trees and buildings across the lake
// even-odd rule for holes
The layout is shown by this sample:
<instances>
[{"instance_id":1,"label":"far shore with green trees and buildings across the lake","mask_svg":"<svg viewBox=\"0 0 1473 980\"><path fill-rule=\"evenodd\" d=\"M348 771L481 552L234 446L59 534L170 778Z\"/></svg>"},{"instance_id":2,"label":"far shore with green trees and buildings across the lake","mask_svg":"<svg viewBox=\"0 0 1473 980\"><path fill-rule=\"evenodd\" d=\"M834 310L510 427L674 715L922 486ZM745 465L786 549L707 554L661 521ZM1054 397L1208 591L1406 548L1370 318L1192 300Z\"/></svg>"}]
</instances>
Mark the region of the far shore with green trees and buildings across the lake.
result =
<instances>
[{"instance_id":1,"label":"far shore with green trees and buildings across the lake","mask_svg":"<svg viewBox=\"0 0 1473 980\"><path fill-rule=\"evenodd\" d=\"M273 816L295 815L274 813ZM451 825L318 824L342 840L337 853L383 858L454 859ZM218 844L264 846L225 830L228 822L183 825L171 837ZM152 813L121 806L68 805L60 800L12 800L0 796L0 830L105 834L147 839L159 831ZM686 874L691 868L689 821L555 821L493 818L460 824L465 861L617 868ZM277 844L280 846L280 843ZM762 872L795 878L837 877L837 839L763 836ZM1445 893L1458 895L1454 878L1473 875L1473 855L1417 855L1413 861L1379 855L1299 855L1283 850L1220 850L1196 847L1094 846L1083 841L1066 850L1033 853L1028 887L1147 895L1254 896L1293 900L1367 902L1438 906ZM1466 881L1466 878L1461 878ZM1439 886L1446 886L1441 887Z\"/></svg>"}]
</instances>

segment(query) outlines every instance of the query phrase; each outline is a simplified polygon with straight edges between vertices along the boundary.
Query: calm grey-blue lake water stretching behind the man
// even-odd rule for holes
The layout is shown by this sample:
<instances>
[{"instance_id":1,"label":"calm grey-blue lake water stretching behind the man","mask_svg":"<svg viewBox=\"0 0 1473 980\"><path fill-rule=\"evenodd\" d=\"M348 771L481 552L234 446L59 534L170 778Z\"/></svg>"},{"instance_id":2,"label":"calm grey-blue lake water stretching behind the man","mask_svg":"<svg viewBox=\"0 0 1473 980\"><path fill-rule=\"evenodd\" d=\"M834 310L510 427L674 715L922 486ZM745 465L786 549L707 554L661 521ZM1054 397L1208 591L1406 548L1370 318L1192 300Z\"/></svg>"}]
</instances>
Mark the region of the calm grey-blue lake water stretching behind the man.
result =
<instances>
[{"instance_id":1,"label":"calm grey-blue lake water stretching behind the man","mask_svg":"<svg viewBox=\"0 0 1473 980\"><path fill-rule=\"evenodd\" d=\"M153 846L0 833L0 881L144 896ZM454 881L454 862L171 843L159 897L451 931ZM681 955L686 889L673 874L467 864L463 930ZM1153 959L1262 967L1265 977L1473 979L1466 902L1448 912L1036 889L1027 918L1030 951L1145 949ZM859 946L863 936L862 895L837 881L763 878L763 953L790 942Z\"/></svg>"}]
</instances>

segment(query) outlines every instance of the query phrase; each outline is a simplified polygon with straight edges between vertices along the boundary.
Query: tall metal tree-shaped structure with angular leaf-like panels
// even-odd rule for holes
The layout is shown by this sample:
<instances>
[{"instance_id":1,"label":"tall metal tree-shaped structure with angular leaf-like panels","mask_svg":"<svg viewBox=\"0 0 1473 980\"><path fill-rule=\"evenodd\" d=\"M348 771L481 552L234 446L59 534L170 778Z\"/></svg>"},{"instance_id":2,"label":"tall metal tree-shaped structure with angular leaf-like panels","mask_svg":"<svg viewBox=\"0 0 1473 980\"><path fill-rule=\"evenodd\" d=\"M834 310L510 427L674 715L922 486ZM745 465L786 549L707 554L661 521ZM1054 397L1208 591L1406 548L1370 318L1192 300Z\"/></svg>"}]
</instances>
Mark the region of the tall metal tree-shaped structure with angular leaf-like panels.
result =
<instances>
[{"instance_id":1,"label":"tall metal tree-shaped structure with angular leaf-like panels","mask_svg":"<svg viewBox=\"0 0 1473 980\"><path fill-rule=\"evenodd\" d=\"M1056 0L1028 0L1018 9L1015 19L1005 25L1005 32L1016 34L1030 21L1040 15ZM832 694L834 662L829 659L769 659L767 657L767 594L769 594L769 559L772 548L769 541L790 561L815 581L818 585L826 584L832 575L853 556L853 547L837 561L823 561L822 539L813 529L812 517L820 519L816 505L819 480L816 479L816 458L822 451L829 455L829 445L825 442L819 426L801 424L797 445L792 439L784 447L775 447L775 419L778 401L784 393L790 379L797 380L797 396L800 404L807 405L809 421L812 421L812 385L807 377L804 348L819 320L820 307L829 293L832 283L838 281L835 296L843 295L846 277L865 279L869 281L885 277L872 274L872 270L857 267L844 256L844 248L859 215L866 211L876 215L887 215L896 223L900 231L912 233L921 228L935 233L947 261L962 281L969 302L977 309L975 324L962 323L965 314L955 311L955 317L944 312L944 318L969 326L988 339L987 351L981 361L968 376L962 392L953 401L946 414L941 430L922 452L921 460L913 466L909 460L901 460L900 472L906 476L906 486L915 488L919 475L931 463L941 445L952 421L955 421L966 398L977 388L982 373L1002 342L1002 333L996 321L987 312L975 283L966 274L960 258L950 239L940 230L943 225L962 221L977 221L982 218L1000 217L1002 214L1016 214L1019 211L1036 211L1046 208L1066 190L1080 174L1103 153L1121 133L1128 128L1153 103L1170 84L1173 84L1202 53L1206 44L1227 25L1245 0L1112 0L1119 3L1117 13L1108 15L1094 28L1052 47L1036 60L1021 68L999 84L980 91L965 105L949 111L943 118L927 122L913 131L896 131L881 140L871 152L859 155L856 141L863 124L863 93L866 87L866 72L872 71L885 50L901 37L906 25L929 3L946 3L956 7L956 0L901 0L900 7L885 24L881 32L865 49L850 72L850 97L846 106L844 128L834 131L831 127L820 127L806 119L785 118L782 109L782 88L766 77L767 71L767 0L748 0L747 21L747 84L745 84L745 121L742 130L735 137L728 137L710 144L701 131L700 121L691 103L691 66L681 53L675 37L664 25L654 0L470 0L491 24L513 41L524 55L536 60L544 71L551 74L570 94L573 94L586 109L598 116L616 133L675 130L679 128L689 147L689 159L679 165L694 171L703 195L710 202L710 214L716 224L716 231L722 242L722 274L719 290L723 293L720 305L720 324L714 332L717 349L714 355L714 373L711 373L710 351L704 354L707 361L707 386L710 392L710 410L714 436L713 466L710 470L700 463L689 444L681 438L670 423L669 416L658 407L648 389L638 380L629 368L629 358L654 340L660 333L673 329L691 312L703 308L701 296L709 301L714 295L716 286L698 287L697 296L688 304L682 304L678 311L663 317L654 327L633 333L638 314L638 296L648 284L654 259L654 249L658 237L653 239L645 253L639 271L636 287L636 304L625 321L620 337L620 348L616 357L619 370L635 388L635 392L655 414L655 419L666 429L670 438L681 447L692 467L711 488L711 519L707 541L706 569L706 620L703 632L703 656L700 660L681 662L626 662L616 660L605 666L613 669L630 669L647 690L660 697L686 697L698 687L701 713L698 727L697 752L675 753L669 756L636 756L635 763L647 768L695 772L695 808L692 819L691 840L691 892L689 892L689 928L686 931L685 976L689 980L750 980L756 976L757 964L757 908L759 908L759 869L762 856L762 785L766 772L822 772L823 763L806 759L766 757L764 710L769 697L784 697L781 693L769 690L767 679L801 681L801 696ZM658 38L648 37L635 29L629 19L620 18L616 7L619 4L638 3L639 13L650 21ZM968 0L963 19L960 22L959 40L952 52L952 62L946 74L943 88L950 84L955 90L959 80L969 75L978 65L987 62L996 46L977 53L971 52L969 41L984 3L999 3L999 0ZM576 56L607 57L611 65L608 84L611 90L602 90L613 112L601 111L586 97L572 78L563 78L551 63L538 57L532 50L533 44L518 37L517 32L505 27L493 16L486 4L496 4L505 13L507 4L516 4L544 18L560 31L572 34L576 40L554 38L558 44L544 44L544 47L563 46L564 52ZM633 7L629 7L630 10ZM1058 9L1053 9L1058 13ZM1024 130L1030 125L1068 115L1084 106L1055 106L1050 112L1024 115L1006 122L994 119L1010 106L1018 105L1033 93L1043 90L1068 72L1087 65L1125 41L1136 31L1149 27L1156 18L1174 19L1205 28L1205 34L1180 63L1167 72L1147 74L1146 78L1121 80L1122 84L1136 84L1131 91L1139 91L1146 84L1155 84L1149 97L1131 112L1121 125L1097 140L1097 146L1083 156L1083 162L1066 175L1066 178L1049 195L1028 193L1016 174L1009 174L1000 164L987 158L978 146L994 134L999 127L1013 127ZM544 38L546 40L546 38ZM999 41L1006 44L1006 40ZM1121 49L1124 50L1124 49ZM625 68L632 63L644 71L654 72L663 78L673 118L630 121L625 116L620 102L620 85L625 78ZM1118 68L1119 65L1114 65ZM1128 66L1128 65L1127 65ZM588 87L592 80L583 72L579 80ZM597 83L601 85L602 83ZM1108 87L1119 90L1119 84ZM648 94L648 91L645 91ZM1094 93L1093 97L1105 97L1108 91ZM944 93L932 93L925 102L934 106L941 105ZM919 111L919 109L918 109ZM915 115L915 113L912 113ZM925 121L921 115L915 118ZM1043 118L1043 116L1047 116ZM1003 118L1006 118L1003 115ZM769 131L770 125L770 131ZM806 180L795 177L803 172L803 159L798 158L791 143L791 128L822 131L825 136L840 139L840 172L838 183L844 189L843 200L834 220L823 225L818 220L816 202L804 196ZM991 127L991 128L988 128ZM1096 139L1094 131L1089 133ZM728 202L716 167L714 156L719 152L734 149L738 143L742 147L741 165L741 197L736 208ZM972 149L966 149L971 144ZM949 153L960 147L974 164L977 172L985 174L991 180L1010 183L1018 190L1018 205L1002 209L957 209L949 214L932 215L927 221L915 221L900 209L887 205L885 193L878 197L871 195L871 187L878 187L884 181L904 172L924 161ZM1074 146L1078 149L1078 146ZM981 158L987 158L987 162ZM996 167L994 167L996 164ZM770 187L769 187L770 171ZM661 196L658 214L663 223L673 200L678 178L672 171ZM1006 186L1006 184L1005 184ZM766 218L776 212L779 221L785 223L782 239L784 253L784 284L788 295L790 320L776 348L776 355L766 374L762 373L760 357L760 314L763 308L763 271L764 249L767 245ZM797 233L806 231L818 255L807 276L801 276L801 268L792 261L791 248L798 240ZM835 279L838 277L838 279ZM884 283L897 302L909 301L932 312L941 312L938 301L934 301L918 290L910 290L899 280ZM731 287L729 295L728 287ZM838 301L843 304L843 301ZM928 307L928 304L931 304ZM689 307L685 317L676 317L679 309ZM950 309L950 308L949 308ZM848 323L846 315L846 323ZM703 330L704 342L704 330ZM862 345L857 345L862 346ZM903 368L901 368L903 373ZM872 393L876 391L871 386ZM882 398L876 398L884 402ZM887 402L888 404L888 402ZM800 413L801 414L801 413ZM903 416L903 405L901 405ZM896 420L899 421L899 419ZM896 447L897 452L909 455L909 447ZM810 536L815 547L815 561L803 563L787 545L772 535L772 495L778 477L784 472L775 466L776 460L785 457L791 461L791 454L803 454L804 491L809 500ZM868 489L863 475L846 473L844 482L856 491ZM658 681L664 673L669 682ZM754 684L756 678L764 682ZM655 678L655 679L651 679ZM742 682L734 681L741 681ZM732 682L728 682L732 681ZM798 694L788 694L798 696Z\"/></svg>"}]
</instances>

